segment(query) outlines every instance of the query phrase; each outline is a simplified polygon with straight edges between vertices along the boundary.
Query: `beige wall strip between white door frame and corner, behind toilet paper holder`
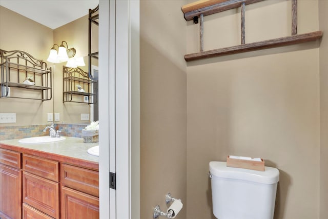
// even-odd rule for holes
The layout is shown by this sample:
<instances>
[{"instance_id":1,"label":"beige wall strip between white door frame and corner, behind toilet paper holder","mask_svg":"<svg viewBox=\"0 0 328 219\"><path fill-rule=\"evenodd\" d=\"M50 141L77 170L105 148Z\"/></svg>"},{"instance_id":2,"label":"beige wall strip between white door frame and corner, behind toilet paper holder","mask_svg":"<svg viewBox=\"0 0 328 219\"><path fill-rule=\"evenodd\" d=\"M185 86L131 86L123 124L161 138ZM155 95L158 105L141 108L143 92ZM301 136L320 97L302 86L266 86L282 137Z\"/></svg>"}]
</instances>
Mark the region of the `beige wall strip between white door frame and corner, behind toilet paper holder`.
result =
<instances>
[{"instance_id":1,"label":"beige wall strip between white door frame and corner, behind toilet paper holder","mask_svg":"<svg viewBox=\"0 0 328 219\"><path fill-rule=\"evenodd\" d=\"M167 211L168 192L187 218L185 1L140 1L140 218Z\"/></svg>"}]
</instances>

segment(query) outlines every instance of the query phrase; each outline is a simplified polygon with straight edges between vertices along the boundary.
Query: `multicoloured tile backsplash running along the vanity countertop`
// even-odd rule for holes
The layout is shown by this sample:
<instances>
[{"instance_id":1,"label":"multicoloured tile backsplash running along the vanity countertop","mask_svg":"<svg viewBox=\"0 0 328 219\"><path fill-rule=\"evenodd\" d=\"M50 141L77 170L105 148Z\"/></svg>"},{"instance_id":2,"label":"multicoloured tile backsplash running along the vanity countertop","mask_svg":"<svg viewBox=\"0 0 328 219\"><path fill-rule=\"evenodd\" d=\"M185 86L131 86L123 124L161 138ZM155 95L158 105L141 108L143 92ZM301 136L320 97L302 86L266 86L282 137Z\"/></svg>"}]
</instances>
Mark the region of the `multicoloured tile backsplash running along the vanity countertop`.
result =
<instances>
[{"instance_id":1,"label":"multicoloured tile backsplash running along the vanity countertop","mask_svg":"<svg viewBox=\"0 0 328 219\"><path fill-rule=\"evenodd\" d=\"M0 141L48 135L49 131L43 131L46 126L49 124L0 127ZM86 124L54 124L55 129L61 131L60 135L69 137L82 137L82 129L86 126Z\"/></svg>"}]
</instances>

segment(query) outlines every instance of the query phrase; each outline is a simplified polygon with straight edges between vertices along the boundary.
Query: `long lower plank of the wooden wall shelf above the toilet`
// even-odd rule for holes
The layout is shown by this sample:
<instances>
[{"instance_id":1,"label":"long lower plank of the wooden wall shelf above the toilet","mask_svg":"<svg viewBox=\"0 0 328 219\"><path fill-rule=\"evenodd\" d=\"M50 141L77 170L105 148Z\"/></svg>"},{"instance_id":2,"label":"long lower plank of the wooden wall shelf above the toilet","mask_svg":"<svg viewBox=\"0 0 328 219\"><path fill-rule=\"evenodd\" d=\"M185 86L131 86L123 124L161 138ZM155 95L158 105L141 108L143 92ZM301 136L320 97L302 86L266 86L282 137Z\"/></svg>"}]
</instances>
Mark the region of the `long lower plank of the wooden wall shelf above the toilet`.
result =
<instances>
[{"instance_id":1,"label":"long lower plank of the wooden wall shelf above the toilet","mask_svg":"<svg viewBox=\"0 0 328 219\"><path fill-rule=\"evenodd\" d=\"M213 49L203 52L191 53L185 55L185 60L195 61L202 58L210 58L221 55L231 55L242 52L255 51L260 49L269 49L281 46L288 46L293 44L300 44L310 41L316 41L322 37L322 31L315 31L311 33L303 33L292 36L280 37L275 39L269 39L267 41L260 41L255 43L243 44L238 46L226 47L221 49Z\"/></svg>"}]
</instances>

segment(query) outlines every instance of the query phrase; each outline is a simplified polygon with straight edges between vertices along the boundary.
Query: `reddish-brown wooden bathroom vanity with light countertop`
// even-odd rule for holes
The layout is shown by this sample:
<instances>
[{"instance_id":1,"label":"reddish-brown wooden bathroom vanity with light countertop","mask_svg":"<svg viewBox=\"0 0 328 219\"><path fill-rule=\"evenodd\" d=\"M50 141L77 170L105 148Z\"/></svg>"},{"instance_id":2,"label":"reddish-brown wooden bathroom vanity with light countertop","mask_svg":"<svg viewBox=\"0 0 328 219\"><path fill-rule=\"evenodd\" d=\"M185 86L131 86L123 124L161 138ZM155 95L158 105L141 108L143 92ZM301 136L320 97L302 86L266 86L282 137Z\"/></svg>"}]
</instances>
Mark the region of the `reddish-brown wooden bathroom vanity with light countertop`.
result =
<instances>
[{"instance_id":1,"label":"reddish-brown wooden bathroom vanity with light countertop","mask_svg":"<svg viewBox=\"0 0 328 219\"><path fill-rule=\"evenodd\" d=\"M0 141L0 218L99 218L97 144Z\"/></svg>"}]
</instances>

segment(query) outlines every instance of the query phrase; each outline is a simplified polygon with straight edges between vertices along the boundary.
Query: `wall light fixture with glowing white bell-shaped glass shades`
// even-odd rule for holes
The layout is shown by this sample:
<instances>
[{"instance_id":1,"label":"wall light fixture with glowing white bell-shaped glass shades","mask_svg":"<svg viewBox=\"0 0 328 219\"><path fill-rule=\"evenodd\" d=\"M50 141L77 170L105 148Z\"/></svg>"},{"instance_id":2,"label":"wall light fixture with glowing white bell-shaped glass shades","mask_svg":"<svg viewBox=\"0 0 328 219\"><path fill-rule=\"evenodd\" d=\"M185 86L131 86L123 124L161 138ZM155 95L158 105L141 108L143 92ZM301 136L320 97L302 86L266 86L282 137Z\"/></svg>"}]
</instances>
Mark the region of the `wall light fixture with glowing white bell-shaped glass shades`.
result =
<instances>
[{"instance_id":1,"label":"wall light fixture with glowing white bell-shaped glass shades","mask_svg":"<svg viewBox=\"0 0 328 219\"><path fill-rule=\"evenodd\" d=\"M66 46L64 46L66 44ZM55 46L58 47L58 53L55 49ZM60 46L54 44L50 49L49 57L47 61L50 63L63 63L67 62L66 67L76 68L77 66L85 66L83 57L74 57L76 50L74 48L68 48L66 41L62 41Z\"/></svg>"}]
</instances>

